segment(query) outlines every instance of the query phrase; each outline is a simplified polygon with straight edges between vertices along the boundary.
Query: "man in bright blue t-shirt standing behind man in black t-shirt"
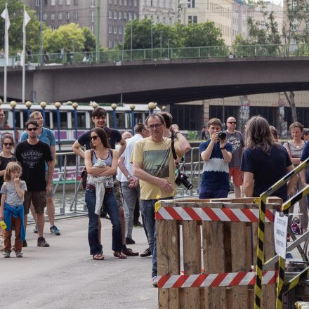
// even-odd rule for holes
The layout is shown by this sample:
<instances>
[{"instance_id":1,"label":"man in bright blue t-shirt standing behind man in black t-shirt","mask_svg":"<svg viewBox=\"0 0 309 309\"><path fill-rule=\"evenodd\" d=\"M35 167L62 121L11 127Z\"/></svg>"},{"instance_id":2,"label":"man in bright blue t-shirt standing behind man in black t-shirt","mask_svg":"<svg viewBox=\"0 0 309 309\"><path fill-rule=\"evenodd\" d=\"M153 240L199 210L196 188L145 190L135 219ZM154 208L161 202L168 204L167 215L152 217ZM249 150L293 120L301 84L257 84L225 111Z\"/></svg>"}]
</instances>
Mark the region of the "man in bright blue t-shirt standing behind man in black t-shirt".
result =
<instances>
[{"instance_id":1,"label":"man in bright blue t-shirt standing behind man in black t-shirt","mask_svg":"<svg viewBox=\"0 0 309 309\"><path fill-rule=\"evenodd\" d=\"M35 120L39 124L39 128L37 130L37 137L39 140L42 142L46 143L49 147L51 147L51 155L53 156L53 164L55 164L55 134L53 131L50 129L44 128L44 119L41 114L41 112L32 112L29 117L30 120ZM22 138L21 140L27 140L28 138L28 133L24 132L22 133ZM45 166L45 170L47 171L47 166ZM53 190L51 192L48 192L46 195L46 202L47 202L47 214L48 214L48 219L49 219L49 224L50 224L50 230L51 234L53 235L60 235L60 230L55 226L55 204L53 202ZM31 206L31 213L36 220L36 216L34 213L33 206ZM34 233L37 233L37 225L34 228Z\"/></svg>"}]
</instances>

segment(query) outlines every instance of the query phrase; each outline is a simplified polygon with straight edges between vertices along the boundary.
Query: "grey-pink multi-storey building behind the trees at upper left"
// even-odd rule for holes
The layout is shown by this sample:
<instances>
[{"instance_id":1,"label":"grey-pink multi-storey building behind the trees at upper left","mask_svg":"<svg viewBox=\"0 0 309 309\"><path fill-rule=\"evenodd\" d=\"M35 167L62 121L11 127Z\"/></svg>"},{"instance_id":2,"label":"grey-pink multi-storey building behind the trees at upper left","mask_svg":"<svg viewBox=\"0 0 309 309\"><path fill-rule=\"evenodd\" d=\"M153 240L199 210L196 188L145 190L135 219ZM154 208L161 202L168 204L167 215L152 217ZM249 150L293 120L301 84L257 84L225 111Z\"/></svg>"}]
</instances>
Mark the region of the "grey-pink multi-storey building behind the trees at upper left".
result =
<instances>
[{"instance_id":1,"label":"grey-pink multi-storey building behind the trees at upper left","mask_svg":"<svg viewBox=\"0 0 309 309\"><path fill-rule=\"evenodd\" d=\"M37 11L42 6L43 21L52 29L70 22L88 27L99 37L102 46L122 44L126 23L138 18L139 0L24 0ZM100 18L98 18L100 17Z\"/></svg>"}]
</instances>

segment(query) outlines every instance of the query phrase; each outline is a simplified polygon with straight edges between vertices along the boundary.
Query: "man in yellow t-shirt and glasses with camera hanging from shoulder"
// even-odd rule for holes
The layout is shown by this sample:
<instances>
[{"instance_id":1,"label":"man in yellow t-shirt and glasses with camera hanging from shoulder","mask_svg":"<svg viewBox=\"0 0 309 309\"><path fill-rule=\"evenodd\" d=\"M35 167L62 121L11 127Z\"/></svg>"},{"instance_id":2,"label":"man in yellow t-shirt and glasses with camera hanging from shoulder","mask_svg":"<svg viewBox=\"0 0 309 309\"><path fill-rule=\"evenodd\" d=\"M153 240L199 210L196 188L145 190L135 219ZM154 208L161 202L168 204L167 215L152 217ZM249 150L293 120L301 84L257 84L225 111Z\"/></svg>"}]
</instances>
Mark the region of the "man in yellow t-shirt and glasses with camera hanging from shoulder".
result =
<instances>
[{"instance_id":1,"label":"man in yellow t-shirt and glasses with camera hanging from shoulder","mask_svg":"<svg viewBox=\"0 0 309 309\"><path fill-rule=\"evenodd\" d=\"M157 287L155 202L157 202L158 195L160 199L172 199L176 195L175 168L171 138L164 138L166 128L164 118L159 114L150 114L145 123L150 137L136 142L131 162L133 163L133 175L140 180L140 208L152 252L152 284ZM190 150L190 144L180 133L176 124L173 124L170 130L178 139L175 142L176 154L182 157Z\"/></svg>"}]
</instances>

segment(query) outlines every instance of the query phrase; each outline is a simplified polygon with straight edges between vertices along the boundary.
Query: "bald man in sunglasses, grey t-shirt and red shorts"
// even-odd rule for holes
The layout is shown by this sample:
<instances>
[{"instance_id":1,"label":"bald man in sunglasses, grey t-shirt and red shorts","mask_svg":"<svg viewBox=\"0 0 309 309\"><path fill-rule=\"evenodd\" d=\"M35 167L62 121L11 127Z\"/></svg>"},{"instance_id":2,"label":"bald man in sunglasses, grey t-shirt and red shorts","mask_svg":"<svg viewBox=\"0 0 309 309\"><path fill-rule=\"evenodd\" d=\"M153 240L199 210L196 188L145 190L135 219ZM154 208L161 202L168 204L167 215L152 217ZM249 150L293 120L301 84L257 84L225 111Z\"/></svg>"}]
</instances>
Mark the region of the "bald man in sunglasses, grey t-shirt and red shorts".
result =
<instances>
[{"instance_id":1,"label":"bald man in sunglasses, grey t-shirt and red shorts","mask_svg":"<svg viewBox=\"0 0 309 309\"><path fill-rule=\"evenodd\" d=\"M230 179L233 179L233 184L235 188L235 197L242 197L240 186L242 185L242 171L240 166L242 166L242 153L244 152L244 137L242 133L236 130L236 119L234 117L228 117L226 121L225 130L226 139L228 143L232 144L232 160L228 164Z\"/></svg>"}]
</instances>

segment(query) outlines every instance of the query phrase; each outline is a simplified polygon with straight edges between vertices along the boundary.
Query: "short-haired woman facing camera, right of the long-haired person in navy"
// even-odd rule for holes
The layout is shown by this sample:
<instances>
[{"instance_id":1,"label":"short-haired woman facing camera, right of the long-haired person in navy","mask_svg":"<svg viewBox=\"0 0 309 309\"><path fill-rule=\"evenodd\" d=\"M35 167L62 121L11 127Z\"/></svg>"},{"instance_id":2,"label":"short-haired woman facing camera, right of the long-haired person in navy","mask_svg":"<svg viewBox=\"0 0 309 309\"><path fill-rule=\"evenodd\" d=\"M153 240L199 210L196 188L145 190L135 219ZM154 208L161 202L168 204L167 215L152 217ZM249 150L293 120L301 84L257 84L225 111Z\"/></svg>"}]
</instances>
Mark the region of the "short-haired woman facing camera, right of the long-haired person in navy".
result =
<instances>
[{"instance_id":1,"label":"short-haired woman facing camera, right of the long-haired person in navy","mask_svg":"<svg viewBox=\"0 0 309 309\"><path fill-rule=\"evenodd\" d=\"M289 140L289 142L284 143L284 147L287 149L289 156L291 158L291 162L294 166L298 166L301 161L301 152L303 152L303 147L305 147L305 142L301 139L303 136L303 124L300 122L294 122L289 127L291 136L293 140ZM297 181L297 192L303 189L303 185L301 184L301 179ZM299 211L301 213L301 228L303 232L307 231L308 228L308 205L305 198L301 199L299 202ZM291 207L292 208L292 207ZM293 212L293 210L291 210ZM292 216L289 216L289 223L291 224Z\"/></svg>"}]
</instances>

